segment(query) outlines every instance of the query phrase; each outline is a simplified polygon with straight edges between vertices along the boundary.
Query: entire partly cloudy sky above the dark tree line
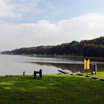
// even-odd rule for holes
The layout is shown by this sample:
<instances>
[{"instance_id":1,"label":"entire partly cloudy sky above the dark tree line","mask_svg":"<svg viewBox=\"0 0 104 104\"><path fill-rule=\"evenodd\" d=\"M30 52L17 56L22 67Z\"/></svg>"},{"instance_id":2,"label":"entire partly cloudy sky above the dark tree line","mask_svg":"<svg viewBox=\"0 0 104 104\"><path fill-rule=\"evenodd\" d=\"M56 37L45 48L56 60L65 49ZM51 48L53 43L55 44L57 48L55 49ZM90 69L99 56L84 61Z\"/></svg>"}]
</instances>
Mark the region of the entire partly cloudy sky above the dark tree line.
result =
<instances>
[{"instance_id":1,"label":"entire partly cloudy sky above the dark tree line","mask_svg":"<svg viewBox=\"0 0 104 104\"><path fill-rule=\"evenodd\" d=\"M0 51L104 36L104 0L0 0Z\"/></svg>"}]
</instances>

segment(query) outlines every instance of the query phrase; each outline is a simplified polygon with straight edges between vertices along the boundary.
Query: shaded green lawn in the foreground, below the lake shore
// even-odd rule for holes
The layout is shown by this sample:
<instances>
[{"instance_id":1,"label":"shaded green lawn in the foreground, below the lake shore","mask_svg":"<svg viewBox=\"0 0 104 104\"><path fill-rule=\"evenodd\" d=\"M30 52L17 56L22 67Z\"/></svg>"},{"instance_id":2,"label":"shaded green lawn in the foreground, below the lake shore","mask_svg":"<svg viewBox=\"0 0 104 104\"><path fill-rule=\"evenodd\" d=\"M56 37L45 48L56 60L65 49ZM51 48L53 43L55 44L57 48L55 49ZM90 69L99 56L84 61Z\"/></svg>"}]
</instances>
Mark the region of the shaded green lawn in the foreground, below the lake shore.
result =
<instances>
[{"instance_id":1,"label":"shaded green lawn in the foreground, below the lake shore","mask_svg":"<svg viewBox=\"0 0 104 104\"><path fill-rule=\"evenodd\" d=\"M0 77L0 104L104 104L104 82L77 75Z\"/></svg>"}]
</instances>

